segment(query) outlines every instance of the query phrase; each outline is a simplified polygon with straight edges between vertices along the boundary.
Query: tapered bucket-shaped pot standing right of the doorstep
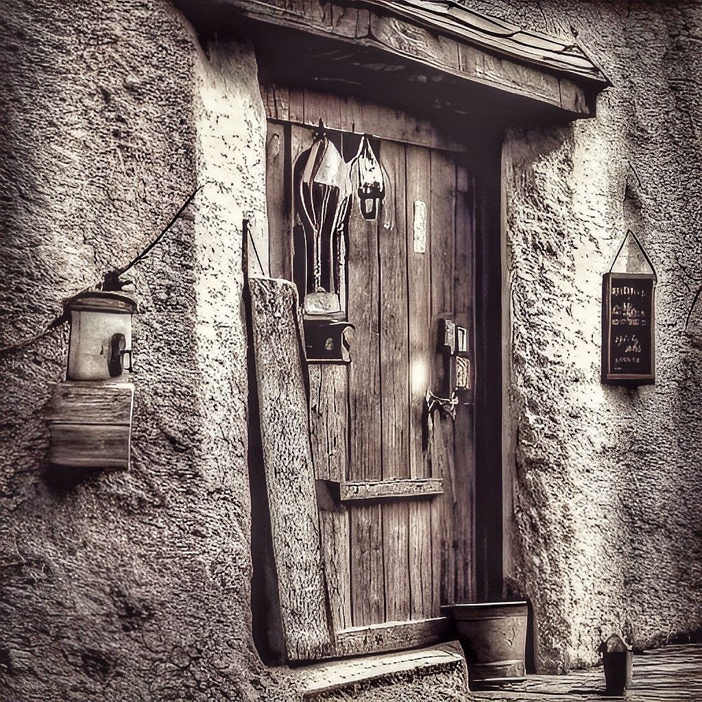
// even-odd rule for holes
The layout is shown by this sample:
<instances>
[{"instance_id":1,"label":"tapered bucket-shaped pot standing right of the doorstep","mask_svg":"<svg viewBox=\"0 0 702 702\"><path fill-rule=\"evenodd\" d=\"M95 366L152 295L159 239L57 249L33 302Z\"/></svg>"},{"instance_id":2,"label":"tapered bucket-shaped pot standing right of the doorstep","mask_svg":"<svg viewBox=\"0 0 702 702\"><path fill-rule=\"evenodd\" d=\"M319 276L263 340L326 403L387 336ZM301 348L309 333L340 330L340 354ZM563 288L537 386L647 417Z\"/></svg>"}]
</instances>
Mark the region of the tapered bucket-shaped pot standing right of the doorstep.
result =
<instances>
[{"instance_id":1,"label":"tapered bucket-shaped pot standing right of the doorstep","mask_svg":"<svg viewBox=\"0 0 702 702\"><path fill-rule=\"evenodd\" d=\"M456 624L469 680L524 677L526 602L453 604L442 609Z\"/></svg>"}]
</instances>

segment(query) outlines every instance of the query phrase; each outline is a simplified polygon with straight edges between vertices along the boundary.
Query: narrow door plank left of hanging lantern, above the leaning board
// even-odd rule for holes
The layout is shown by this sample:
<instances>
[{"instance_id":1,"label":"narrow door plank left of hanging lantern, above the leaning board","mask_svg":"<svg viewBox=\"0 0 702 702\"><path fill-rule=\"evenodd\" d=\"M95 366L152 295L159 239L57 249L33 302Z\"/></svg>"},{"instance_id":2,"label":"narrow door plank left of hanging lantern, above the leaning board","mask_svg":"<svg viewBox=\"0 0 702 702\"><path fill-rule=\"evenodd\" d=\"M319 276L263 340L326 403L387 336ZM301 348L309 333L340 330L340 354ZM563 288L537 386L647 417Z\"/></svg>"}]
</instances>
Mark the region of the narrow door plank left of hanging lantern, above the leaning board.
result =
<instances>
[{"instance_id":1,"label":"narrow door plank left of hanging lantern, above the leaning board","mask_svg":"<svg viewBox=\"0 0 702 702\"><path fill-rule=\"evenodd\" d=\"M268 267L274 278L290 280L291 271L291 203L286 183L286 152L290 150L289 133L282 124L268 123L266 138L266 201L268 213ZM287 183L289 187L289 183Z\"/></svg>"}]
</instances>

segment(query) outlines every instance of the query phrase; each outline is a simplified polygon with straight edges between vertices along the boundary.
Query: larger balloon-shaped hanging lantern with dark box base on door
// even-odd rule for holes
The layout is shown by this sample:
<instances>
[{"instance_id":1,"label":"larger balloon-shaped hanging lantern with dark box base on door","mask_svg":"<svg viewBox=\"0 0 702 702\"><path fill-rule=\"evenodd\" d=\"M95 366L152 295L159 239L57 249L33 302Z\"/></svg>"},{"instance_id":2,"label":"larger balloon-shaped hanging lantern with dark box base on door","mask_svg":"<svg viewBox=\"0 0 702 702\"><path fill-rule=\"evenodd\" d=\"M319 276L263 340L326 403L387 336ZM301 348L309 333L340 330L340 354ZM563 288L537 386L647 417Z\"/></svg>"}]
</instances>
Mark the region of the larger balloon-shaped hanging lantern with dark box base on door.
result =
<instances>
[{"instance_id":1,"label":"larger balloon-shaped hanging lantern with dark box base on door","mask_svg":"<svg viewBox=\"0 0 702 702\"><path fill-rule=\"evenodd\" d=\"M307 360L350 361L346 321L347 218L350 169L319 121L312 147L295 168L302 235L295 277L305 325Z\"/></svg>"}]
</instances>

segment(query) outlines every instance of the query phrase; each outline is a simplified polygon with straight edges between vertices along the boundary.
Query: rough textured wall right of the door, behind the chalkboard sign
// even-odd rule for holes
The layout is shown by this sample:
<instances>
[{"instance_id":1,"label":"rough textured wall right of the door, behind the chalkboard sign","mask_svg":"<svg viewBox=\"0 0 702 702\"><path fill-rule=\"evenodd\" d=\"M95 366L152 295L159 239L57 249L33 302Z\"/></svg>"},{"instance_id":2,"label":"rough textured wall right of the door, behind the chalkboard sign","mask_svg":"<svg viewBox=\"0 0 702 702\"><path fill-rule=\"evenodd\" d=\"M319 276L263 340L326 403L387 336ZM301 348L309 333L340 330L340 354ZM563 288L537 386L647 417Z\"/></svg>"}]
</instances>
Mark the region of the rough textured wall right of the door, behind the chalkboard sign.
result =
<instances>
[{"instance_id":1,"label":"rough textured wall right of the door, behind the chalkboard sign","mask_svg":"<svg viewBox=\"0 0 702 702\"><path fill-rule=\"evenodd\" d=\"M504 150L508 586L534 604L539 667L564 670L613 631L645 647L702 626L701 355L684 333L702 279L702 8L471 5L574 29L614 83L597 119L514 129ZM600 384L602 274L628 227L659 278L657 380L637 390Z\"/></svg>"}]
</instances>

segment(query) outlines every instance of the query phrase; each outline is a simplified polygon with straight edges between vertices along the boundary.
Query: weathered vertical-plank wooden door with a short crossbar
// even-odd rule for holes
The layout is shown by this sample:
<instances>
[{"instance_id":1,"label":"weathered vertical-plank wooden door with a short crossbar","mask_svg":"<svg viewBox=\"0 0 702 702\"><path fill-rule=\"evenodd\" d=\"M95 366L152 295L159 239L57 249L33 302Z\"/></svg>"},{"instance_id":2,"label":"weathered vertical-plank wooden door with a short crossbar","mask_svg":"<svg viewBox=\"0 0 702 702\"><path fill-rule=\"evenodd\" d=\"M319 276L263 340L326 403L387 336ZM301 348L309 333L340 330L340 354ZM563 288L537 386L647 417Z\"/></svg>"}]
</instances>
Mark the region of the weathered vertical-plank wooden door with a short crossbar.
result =
<instances>
[{"instance_id":1,"label":"weathered vertical-plank wooden door with a short crossbar","mask_svg":"<svg viewBox=\"0 0 702 702\"><path fill-rule=\"evenodd\" d=\"M435 413L425 438L423 408L443 380L439 320L473 347L477 181L460 145L397 110L279 86L263 98L272 277L293 279L293 169L320 119L346 161L376 136L385 171L378 218L355 199L347 227L352 362L309 366L330 655L429 644L447 635L439 607L475 596L472 404L455 423Z\"/></svg>"}]
</instances>

